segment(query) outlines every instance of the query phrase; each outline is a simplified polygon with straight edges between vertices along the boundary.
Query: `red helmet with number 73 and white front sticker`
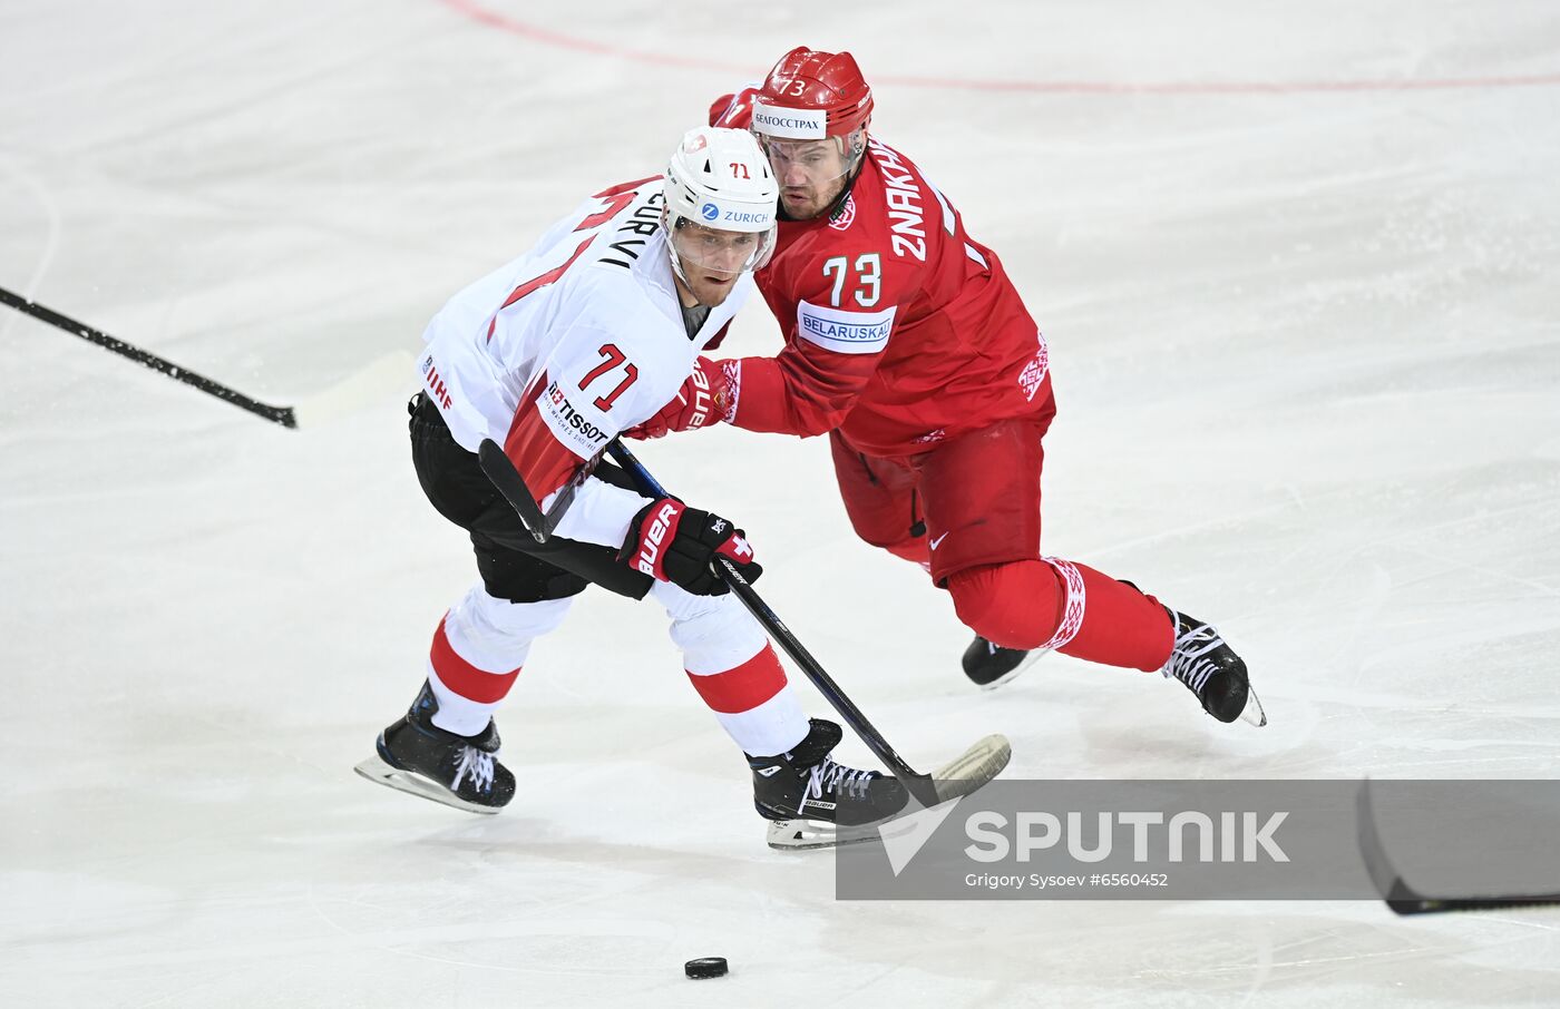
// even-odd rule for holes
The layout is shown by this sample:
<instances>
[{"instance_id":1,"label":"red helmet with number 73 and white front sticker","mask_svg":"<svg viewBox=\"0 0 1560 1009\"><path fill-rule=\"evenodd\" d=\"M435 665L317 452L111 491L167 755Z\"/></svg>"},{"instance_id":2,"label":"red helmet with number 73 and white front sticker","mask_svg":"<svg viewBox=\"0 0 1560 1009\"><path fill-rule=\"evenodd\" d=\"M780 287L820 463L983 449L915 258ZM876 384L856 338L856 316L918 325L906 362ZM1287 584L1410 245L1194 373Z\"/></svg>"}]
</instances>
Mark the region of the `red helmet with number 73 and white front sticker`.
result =
<instances>
[{"instance_id":1,"label":"red helmet with number 73 and white front sticker","mask_svg":"<svg viewBox=\"0 0 1560 1009\"><path fill-rule=\"evenodd\" d=\"M844 137L872 119L872 89L850 53L799 45L753 95L753 133L788 140Z\"/></svg>"}]
</instances>

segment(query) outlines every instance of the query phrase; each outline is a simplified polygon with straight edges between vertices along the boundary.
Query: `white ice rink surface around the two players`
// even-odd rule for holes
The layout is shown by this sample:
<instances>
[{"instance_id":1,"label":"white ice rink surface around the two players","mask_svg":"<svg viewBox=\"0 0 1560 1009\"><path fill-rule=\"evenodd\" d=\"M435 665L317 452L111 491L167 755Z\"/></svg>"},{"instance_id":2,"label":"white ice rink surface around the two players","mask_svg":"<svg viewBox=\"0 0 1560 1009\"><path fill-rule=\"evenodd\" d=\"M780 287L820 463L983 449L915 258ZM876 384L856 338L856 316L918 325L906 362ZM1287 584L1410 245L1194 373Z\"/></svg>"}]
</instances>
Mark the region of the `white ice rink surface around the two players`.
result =
<instances>
[{"instance_id":1,"label":"white ice rink surface around the two players","mask_svg":"<svg viewBox=\"0 0 1560 1009\"><path fill-rule=\"evenodd\" d=\"M610 597L510 697L502 816L353 775L474 577L410 471L413 379L376 362L802 42L856 53L878 133L1050 338L1048 551L1217 621L1271 717L1218 727L1059 657L978 694L947 599L852 536L821 441L644 446L747 527L766 597L902 750L1554 775L1554 3L23 0L0 285L261 399L356 391L289 432L0 312L0 1003L1560 1000L1543 912L836 903L827 855L763 847L663 618ZM733 346L774 346L761 307ZM683 979L707 954L730 976Z\"/></svg>"}]
</instances>

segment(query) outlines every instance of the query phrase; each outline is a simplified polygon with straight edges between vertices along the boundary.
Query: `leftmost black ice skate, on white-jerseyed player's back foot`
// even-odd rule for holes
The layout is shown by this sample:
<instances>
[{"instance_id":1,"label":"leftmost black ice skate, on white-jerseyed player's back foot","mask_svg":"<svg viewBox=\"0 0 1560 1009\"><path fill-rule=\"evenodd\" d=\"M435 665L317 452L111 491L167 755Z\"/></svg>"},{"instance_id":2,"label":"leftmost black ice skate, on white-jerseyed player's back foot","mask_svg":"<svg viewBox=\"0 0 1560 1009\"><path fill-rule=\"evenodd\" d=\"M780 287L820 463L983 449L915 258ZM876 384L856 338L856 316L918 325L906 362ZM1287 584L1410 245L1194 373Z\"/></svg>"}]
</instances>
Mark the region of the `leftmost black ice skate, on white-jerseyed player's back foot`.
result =
<instances>
[{"instance_id":1,"label":"leftmost black ice skate, on white-jerseyed player's back foot","mask_svg":"<svg viewBox=\"0 0 1560 1009\"><path fill-rule=\"evenodd\" d=\"M421 795L468 813L498 813L515 797L515 775L493 758L498 725L457 736L434 725L438 700L427 683L410 711L379 733L378 755L357 764L376 784Z\"/></svg>"}]
</instances>

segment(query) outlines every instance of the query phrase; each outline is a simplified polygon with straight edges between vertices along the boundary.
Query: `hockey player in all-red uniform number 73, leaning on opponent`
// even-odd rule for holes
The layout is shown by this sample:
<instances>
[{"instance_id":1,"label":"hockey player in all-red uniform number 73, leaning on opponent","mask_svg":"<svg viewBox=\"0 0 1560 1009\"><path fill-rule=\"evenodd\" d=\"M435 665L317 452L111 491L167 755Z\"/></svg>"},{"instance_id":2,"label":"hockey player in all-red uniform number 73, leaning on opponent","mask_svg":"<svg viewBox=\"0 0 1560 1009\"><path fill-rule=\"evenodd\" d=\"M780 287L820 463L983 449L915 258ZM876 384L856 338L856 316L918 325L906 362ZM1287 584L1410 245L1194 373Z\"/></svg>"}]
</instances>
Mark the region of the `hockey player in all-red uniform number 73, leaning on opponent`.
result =
<instances>
[{"instance_id":1,"label":"hockey player in all-red uniform number 73, leaning on opponent","mask_svg":"<svg viewBox=\"0 0 1560 1009\"><path fill-rule=\"evenodd\" d=\"M1214 627L1042 552L1045 338L953 203L870 136L872 90L850 53L796 48L710 117L749 126L780 181L778 246L757 279L785 348L700 357L636 434L718 421L828 434L852 526L948 591L977 635L964 671L980 686L1055 649L1162 671L1218 720L1264 724Z\"/></svg>"}]
</instances>

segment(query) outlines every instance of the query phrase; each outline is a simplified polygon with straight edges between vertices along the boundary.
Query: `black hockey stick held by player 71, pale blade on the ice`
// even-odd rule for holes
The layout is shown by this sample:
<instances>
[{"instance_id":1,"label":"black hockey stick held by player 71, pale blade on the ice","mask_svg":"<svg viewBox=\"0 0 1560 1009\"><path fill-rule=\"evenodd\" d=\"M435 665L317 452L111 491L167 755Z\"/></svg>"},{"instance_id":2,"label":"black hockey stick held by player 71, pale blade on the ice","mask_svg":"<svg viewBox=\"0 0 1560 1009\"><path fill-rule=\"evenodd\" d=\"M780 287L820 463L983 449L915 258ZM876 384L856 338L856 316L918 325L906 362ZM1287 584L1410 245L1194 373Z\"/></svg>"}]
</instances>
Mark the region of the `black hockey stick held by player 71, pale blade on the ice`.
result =
<instances>
[{"instance_id":1,"label":"black hockey stick held by player 71, pale blade on the ice","mask_svg":"<svg viewBox=\"0 0 1560 1009\"><path fill-rule=\"evenodd\" d=\"M666 488L644 468L633 452L629 451L621 441L613 441L607 446L607 452L618 460L618 463L627 469L640 487L655 494L657 497L668 497ZM925 775L905 763L905 758L889 745L888 739L883 738L867 716L861 713L860 708L846 696L839 685L835 683L833 677L824 669L824 666L813 658L813 653L791 633L791 628L775 614L774 610L758 596L743 572L736 569L736 565L725 557L716 557L716 572L721 580L730 586L732 593L747 607L747 611L753 614L753 619L769 633L769 636L785 649L785 653L802 667L807 678L813 682L817 692L824 696L824 700L839 713L839 717L846 720L847 725L867 744L880 761L899 778L906 789L922 803L931 806L950 798L958 798L959 795L967 795L986 784L1008 766L1008 758L1012 756L1012 747L1008 739L1000 735L991 735L978 741L969 750L966 750L958 759L948 763L938 772L938 777ZM952 774L950 774L952 772ZM944 777L945 775L945 777Z\"/></svg>"}]
</instances>

